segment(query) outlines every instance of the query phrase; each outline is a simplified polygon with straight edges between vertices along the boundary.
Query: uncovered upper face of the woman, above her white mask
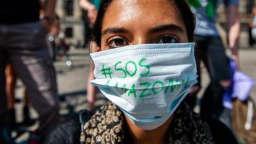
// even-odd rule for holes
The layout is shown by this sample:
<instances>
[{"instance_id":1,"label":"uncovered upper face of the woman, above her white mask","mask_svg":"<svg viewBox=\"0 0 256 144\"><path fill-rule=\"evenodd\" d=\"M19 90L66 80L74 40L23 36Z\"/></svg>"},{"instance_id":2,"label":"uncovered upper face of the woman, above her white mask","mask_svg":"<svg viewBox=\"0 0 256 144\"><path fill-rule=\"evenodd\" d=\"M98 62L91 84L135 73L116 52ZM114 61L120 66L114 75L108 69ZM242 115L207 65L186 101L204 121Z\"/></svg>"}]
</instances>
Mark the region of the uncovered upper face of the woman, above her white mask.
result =
<instances>
[{"instance_id":1,"label":"uncovered upper face of the woman, above her white mask","mask_svg":"<svg viewBox=\"0 0 256 144\"><path fill-rule=\"evenodd\" d=\"M102 51L135 44L188 42L182 17L168 0L113 0L101 33Z\"/></svg>"}]
</instances>

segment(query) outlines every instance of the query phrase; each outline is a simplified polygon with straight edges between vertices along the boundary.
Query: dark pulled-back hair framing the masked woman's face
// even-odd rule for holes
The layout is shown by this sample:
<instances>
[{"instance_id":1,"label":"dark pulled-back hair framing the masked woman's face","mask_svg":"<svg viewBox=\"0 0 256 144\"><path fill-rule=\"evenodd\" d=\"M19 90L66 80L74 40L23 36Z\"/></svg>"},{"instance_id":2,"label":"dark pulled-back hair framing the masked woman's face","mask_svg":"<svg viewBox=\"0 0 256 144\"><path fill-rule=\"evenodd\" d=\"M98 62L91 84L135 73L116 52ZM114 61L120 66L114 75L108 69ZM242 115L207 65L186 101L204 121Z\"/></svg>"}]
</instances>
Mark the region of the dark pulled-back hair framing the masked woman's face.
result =
<instances>
[{"instance_id":1,"label":"dark pulled-back hair framing the masked woman's face","mask_svg":"<svg viewBox=\"0 0 256 144\"><path fill-rule=\"evenodd\" d=\"M102 21L104 18L105 12L108 10L108 6L111 4L113 0L102 0L100 4L99 12L97 15L97 19L94 24L93 28L93 37L97 42L97 45L100 46L100 39L101 39L101 31L102 31ZM186 30L188 33L188 41L193 42L193 34L195 30L195 16L191 12L188 3L186 0L168 0L175 5L175 8L180 12L182 16L182 20L186 26Z\"/></svg>"}]
</instances>

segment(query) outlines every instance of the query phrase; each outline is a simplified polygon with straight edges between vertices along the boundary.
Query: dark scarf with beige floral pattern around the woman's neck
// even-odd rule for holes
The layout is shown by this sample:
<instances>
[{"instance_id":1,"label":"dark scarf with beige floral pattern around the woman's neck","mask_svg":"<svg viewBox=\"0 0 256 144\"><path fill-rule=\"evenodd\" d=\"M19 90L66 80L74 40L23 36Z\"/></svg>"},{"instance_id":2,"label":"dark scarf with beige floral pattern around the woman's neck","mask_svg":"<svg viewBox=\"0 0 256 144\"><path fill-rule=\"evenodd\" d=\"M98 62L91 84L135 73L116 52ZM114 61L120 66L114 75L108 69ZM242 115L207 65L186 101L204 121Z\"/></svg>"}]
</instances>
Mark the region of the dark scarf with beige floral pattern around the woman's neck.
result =
<instances>
[{"instance_id":1,"label":"dark scarf with beige floral pattern around the woman's neck","mask_svg":"<svg viewBox=\"0 0 256 144\"><path fill-rule=\"evenodd\" d=\"M208 125L193 113L185 103L175 111L169 131L169 143L214 143ZM93 115L81 135L83 143L132 143L124 124L124 114L115 104L108 102Z\"/></svg>"}]
</instances>

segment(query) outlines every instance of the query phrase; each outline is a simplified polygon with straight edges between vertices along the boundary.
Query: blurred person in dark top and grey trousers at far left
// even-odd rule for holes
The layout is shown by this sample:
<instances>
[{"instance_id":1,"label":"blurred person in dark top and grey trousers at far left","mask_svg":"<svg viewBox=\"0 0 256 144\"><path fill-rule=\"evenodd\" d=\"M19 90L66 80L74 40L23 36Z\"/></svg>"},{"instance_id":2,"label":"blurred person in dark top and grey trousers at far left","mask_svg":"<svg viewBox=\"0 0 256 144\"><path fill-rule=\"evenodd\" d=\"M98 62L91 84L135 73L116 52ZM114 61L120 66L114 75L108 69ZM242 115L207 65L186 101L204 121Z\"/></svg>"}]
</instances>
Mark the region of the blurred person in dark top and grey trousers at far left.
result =
<instances>
[{"instance_id":1,"label":"blurred person in dark top and grey trousers at far left","mask_svg":"<svg viewBox=\"0 0 256 144\"><path fill-rule=\"evenodd\" d=\"M9 57L26 85L33 108L38 112L38 136L41 140L59 120L56 77L45 40L54 20L56 0L45 0L43 5L45 15L39 19L39 0L3 1L0 4L0 95L6 99L2 81L5 81L3 73ZM6 103L2 99L1 103Z\"/></svg>"}]
</instances>

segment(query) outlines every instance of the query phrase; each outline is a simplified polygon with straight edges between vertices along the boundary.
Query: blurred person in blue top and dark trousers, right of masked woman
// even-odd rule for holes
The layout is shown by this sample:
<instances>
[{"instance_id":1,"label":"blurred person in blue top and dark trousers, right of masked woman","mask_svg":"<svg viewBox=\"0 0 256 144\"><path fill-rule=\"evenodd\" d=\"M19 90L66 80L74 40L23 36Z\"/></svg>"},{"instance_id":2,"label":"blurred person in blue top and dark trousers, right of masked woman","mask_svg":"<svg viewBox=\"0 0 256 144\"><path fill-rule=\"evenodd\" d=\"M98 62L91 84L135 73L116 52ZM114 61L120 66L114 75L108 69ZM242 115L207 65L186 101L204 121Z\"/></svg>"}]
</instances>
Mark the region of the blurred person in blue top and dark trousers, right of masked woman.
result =
<instances>
[{"instance_id":1,"label":"blurred person in blue top and dark trousers, right of masked woman","mask_svg":"<svg viewBox=\"0 0 256 144\"><path fill-rule=\"evenodd\" d=\"M213 117L220 119L228 127L231 127L230 111L227 112L222 106L223 94L230 86L230 70L228 58L225 54L225 48L221 42L220 33L216 28L216 19L218 15L216 8L221 3L225 3L227 17L227 43L232 51L232 59L237 63L238 59L238 40L240 33L238 0L188 0L196 16L195 42L197 50L200 51L200 60L202 60L211 77L211 83L205 90L200 105L200 114L205 118ZM200 67L198 67L200 72ZM193 93L200 90L200 79L198 84L191 88ZM194 97L196 95L193 95ZM188 97L189 99L191 97ZM195 106L194 103L191 104Z\"/></svg>"}]
</instances>

